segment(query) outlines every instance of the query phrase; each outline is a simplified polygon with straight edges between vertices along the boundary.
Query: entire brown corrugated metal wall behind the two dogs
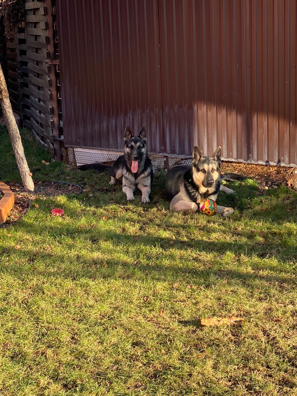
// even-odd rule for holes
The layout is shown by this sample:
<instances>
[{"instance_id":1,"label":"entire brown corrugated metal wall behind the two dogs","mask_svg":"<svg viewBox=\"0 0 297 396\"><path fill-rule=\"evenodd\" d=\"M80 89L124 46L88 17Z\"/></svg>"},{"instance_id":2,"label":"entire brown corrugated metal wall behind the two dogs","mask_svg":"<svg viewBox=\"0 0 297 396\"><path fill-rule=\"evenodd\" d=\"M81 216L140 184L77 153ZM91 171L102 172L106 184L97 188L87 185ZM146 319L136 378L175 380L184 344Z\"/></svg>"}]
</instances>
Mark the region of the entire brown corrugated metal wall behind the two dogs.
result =
<instances>
[{"instance_id":1,"label":"entire brown corrugated metal wall behind the two dogs","mask_svg":"<svg viewBox=\"0 0 297 396\"><path fill-rule=\"evenodd\" d=\"M297 0L57 0L65 145L297 165Z\"/></svg>"}]
</instances>

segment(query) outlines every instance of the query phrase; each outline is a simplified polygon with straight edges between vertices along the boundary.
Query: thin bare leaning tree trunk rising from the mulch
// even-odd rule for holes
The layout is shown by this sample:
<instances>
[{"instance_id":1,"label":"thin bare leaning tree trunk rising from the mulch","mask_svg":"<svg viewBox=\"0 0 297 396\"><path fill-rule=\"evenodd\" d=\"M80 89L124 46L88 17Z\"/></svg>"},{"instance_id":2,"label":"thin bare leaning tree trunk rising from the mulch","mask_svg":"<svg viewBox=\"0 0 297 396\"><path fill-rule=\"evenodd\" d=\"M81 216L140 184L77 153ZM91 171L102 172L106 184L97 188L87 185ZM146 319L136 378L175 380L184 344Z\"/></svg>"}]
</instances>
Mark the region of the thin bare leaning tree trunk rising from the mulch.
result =
<instances>
[{"instance_id":1,"label":"thin bare leaning tree trunk rising from the mulch","mask_svg":"<svg viewBox=\"0 0 297 396\"><path fill-rule=\"evenodd\" d=\"M0 65L0 104L4 115L4 120L10 135L11 145L19 168L19 173L23 181L25 190L34 191L34 183L32 180L32 173L30 173L29 166L24 153L24 148L21 141L21 135L19 134L19 128L13 116L11 103L8 95L8 90L3 74L2 67Z\"/></svg>"}]
</instances>

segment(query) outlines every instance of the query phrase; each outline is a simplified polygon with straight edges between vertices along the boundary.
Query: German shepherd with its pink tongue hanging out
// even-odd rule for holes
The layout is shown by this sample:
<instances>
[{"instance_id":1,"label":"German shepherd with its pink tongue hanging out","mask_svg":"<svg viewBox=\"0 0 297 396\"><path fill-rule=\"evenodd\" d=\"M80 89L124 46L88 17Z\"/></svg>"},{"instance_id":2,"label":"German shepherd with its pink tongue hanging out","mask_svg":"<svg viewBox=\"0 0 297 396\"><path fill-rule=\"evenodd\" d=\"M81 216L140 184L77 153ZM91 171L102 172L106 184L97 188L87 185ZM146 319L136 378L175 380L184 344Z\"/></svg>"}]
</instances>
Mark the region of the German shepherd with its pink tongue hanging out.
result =
<instances>
[{"instance_id":1,"label":"German shepherd with its pink tongue hanging out","mask_svg":"<svg viewBox=\"0 0 297 396\"><path fill-rule=\"evenodd\" d=\"M129 126L124 132L125 154L118 157L109 171L111 180L115 184L117 179L123 177L123 192L127 201L134 199L134 191L138 188L142 192L141 202L150 202L149 195L152 186L152 162L147 156L147 131L143 126L139 135L133 136Z\"/></svg>"}]
</instances>

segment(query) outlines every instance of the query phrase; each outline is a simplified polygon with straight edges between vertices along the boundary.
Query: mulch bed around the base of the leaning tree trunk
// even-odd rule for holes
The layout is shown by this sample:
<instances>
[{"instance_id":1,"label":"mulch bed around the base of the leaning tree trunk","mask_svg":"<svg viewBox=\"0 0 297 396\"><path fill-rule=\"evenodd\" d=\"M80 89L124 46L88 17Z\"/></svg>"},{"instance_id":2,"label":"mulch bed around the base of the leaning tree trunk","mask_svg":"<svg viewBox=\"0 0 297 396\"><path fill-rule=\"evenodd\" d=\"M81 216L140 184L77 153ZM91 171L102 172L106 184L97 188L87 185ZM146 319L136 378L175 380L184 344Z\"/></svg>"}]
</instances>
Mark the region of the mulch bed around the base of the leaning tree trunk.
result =
<instances>
[{"instance_id":1,"label":"mulch bed around the base of the leaning tree trunk","mask_svg":"<svg viewBox=\"0 0 297 396\"><path fill-rule=\"evenodd\" d=\"M46 198L49 196L64 195L64 194L79 194L80 188L73 185L55 184L51 182L35 183L35 192L28 193L21 183L6 183L14 193L15 204L8 214L5 223L1 227L8 227L11 223L21 219L27 213L30 202L37 196Z\"/></svg>"}]
</instances>

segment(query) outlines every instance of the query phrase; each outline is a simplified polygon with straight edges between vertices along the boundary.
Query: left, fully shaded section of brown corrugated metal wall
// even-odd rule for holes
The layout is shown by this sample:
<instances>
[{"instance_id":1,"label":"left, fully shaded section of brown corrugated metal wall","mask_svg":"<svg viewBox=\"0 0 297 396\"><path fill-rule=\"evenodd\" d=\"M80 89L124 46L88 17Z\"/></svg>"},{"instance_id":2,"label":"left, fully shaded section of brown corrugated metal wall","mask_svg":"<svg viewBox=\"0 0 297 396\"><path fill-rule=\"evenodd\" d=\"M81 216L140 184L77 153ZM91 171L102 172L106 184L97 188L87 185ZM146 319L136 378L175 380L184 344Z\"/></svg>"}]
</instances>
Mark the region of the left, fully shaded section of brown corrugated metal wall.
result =
<instances>
[{"instance_id":1,"label":"left, fully shaded section of brown corrugated metal wall","mask_svg":"<svg viewBox=\"0 0 297 396\"><path fill-rule=\"evenodd\" d=\"M65 146L123 149L125 125L164 150L156 0L57 0Z\"/></svg>"}]
</instances>

